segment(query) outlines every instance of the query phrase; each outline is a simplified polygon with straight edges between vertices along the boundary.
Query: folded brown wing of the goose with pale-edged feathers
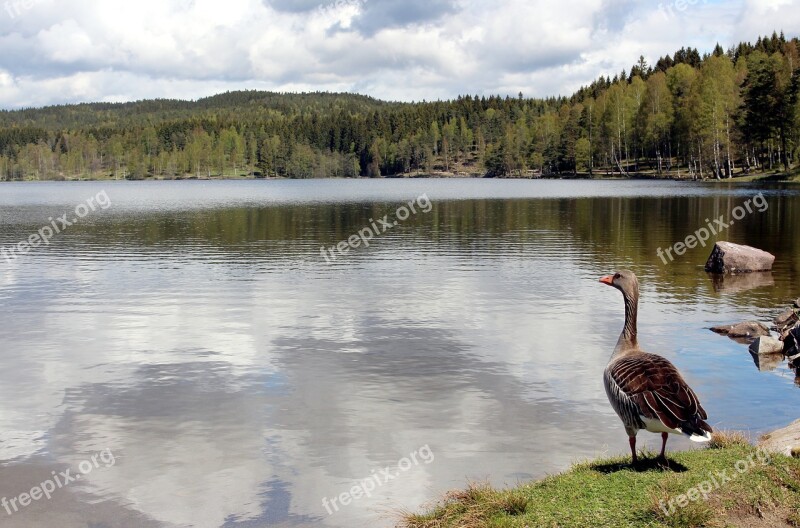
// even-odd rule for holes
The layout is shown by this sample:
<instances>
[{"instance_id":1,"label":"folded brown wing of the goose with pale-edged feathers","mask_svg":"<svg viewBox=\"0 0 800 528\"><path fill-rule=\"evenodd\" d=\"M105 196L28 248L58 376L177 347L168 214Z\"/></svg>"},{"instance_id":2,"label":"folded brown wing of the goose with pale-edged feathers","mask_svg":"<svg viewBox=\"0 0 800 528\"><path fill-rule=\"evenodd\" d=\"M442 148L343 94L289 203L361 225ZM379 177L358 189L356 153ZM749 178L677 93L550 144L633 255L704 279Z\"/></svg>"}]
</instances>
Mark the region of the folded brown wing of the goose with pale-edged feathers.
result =
<instances>
[{"instance_id":1,"label":"folded brown wing of the goose with pale-edged feathers","mask_svg":"<svg viewBox=\"0 0 800 528\"><path fill-rule=\"evenodd\" d=\"M708 437L711 433L700 400L666 358L655 354L622 357L609 365L608 373L642 416L689 436Z\"/></svg>"}]
</instances>

